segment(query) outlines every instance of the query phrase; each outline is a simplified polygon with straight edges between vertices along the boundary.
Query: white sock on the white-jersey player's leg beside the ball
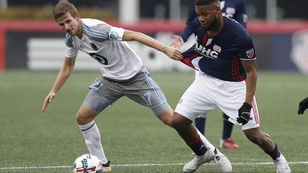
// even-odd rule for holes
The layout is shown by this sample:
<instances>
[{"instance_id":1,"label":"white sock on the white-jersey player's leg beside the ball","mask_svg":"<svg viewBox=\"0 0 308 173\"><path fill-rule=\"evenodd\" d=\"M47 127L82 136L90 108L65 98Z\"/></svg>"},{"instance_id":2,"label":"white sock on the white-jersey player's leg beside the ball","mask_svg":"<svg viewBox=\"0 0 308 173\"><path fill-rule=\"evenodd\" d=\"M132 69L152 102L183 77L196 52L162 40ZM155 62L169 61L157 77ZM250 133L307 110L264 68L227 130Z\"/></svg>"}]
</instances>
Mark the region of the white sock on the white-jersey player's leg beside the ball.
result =
<instances>
[{"instance_id":1,"label":"white sock on the white-jersey player's leg beside the ball","mask_svg":"<svg viewBox=\"0 0 308 173\"><path fill-rule=\"evenodd\" d=\"M101 159L103 164L106 164L108 160L106 159L105 153L103 152L103 147L101 145L101 134L94 121L89 122L86 125L79 125L83 137L88 147L90 154L95 155L98 159Z\"/></svg>"}]
</instances>

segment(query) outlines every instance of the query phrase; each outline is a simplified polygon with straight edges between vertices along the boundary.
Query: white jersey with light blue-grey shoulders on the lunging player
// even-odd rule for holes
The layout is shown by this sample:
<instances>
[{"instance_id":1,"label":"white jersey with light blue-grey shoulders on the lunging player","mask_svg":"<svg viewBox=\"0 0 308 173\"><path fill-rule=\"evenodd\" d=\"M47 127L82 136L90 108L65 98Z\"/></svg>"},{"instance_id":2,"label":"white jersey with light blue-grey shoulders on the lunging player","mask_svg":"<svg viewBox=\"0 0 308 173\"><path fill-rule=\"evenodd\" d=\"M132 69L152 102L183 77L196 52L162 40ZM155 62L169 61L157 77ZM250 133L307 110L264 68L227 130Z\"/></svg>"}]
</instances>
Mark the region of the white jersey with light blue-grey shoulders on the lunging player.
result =
<instances>
[{"instance_id":1,"label":"white jersey with light blue-grey shoulders on the lunging player","mask_svg":"<svg viewBox=\"0 0 308 173\"><path fill-rule=\"evenodd\" d=\"M96 19L81 19L83 37L66 34L66 57L87 53L101 65L104 78L127 80L143 66L141 58L123 41L123 28L116 28Z\"/></svg>"}]
</instances>

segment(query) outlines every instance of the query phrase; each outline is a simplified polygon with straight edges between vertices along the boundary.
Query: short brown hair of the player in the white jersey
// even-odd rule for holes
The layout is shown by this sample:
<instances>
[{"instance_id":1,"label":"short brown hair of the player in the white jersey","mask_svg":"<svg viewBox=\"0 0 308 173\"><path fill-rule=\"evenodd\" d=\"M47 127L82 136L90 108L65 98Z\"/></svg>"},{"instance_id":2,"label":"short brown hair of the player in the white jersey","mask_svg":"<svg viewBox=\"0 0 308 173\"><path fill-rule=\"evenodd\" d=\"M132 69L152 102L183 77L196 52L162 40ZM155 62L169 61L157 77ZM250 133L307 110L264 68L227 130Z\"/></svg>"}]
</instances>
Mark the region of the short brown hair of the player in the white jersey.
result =
<instances>
[{"instance_id":1,"label":"short brown hair of the player in the white jersey","mask_svg":"<svg viewBox=\"0 0 308 173\"><path fill-rule=\"evenodd\" d=\"M67 14L68 12L71 14L71 16L75 18L77 14L77 9L73 4L69 2L60 2L53 9L53 18L57 20L59 17L63 16L64 14Z\"/></svg>"}]
</instances>

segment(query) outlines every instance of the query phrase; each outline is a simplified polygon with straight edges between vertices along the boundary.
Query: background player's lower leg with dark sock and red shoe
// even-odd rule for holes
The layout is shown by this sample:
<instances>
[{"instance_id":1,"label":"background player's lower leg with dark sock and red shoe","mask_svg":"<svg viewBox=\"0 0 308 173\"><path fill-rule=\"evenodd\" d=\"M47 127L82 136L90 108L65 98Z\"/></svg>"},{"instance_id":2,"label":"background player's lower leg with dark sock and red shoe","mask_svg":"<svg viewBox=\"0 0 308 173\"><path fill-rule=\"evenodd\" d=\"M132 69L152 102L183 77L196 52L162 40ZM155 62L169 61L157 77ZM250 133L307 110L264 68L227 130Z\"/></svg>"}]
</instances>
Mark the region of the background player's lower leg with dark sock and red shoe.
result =
<instances>
[{"instance_id":1,"label":"background player's lower leg with dark sock and red shoe","mask_svg":"<svg viewBox=\"0 0 308 173\"><path fill-rule=\"evenodd\" d=\"M222 113L222 138L220 139L220 147L222 148L239 148L240 146L235 144L231 139L231 133L233 129L233 123L229 122L229 116Z\"/></svg>"}]
</instances>

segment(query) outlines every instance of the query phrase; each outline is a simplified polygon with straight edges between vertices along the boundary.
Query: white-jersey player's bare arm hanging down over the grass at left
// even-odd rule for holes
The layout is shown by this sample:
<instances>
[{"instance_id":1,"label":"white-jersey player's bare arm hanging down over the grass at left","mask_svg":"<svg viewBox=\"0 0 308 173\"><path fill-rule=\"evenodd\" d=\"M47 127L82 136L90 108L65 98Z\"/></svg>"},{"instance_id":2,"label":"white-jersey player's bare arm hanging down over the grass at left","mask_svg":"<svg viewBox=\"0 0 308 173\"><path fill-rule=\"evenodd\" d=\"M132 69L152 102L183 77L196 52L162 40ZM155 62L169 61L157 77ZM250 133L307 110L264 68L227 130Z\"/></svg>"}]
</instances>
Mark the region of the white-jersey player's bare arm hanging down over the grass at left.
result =
<instances>
[{"instance_id":1,"label":"white-jersey player's bare arm hanging down over the grass at left","mask_svg":"<svg viewBox=\"0 0 308 173\"><path fill-rule=\"evenodd\" d=\"M76 57L73 58L65 58L65 61L63 62L62 68L58 72L58 76L56 78L56 82L53 84L53 87L51 88L50 93L46 96L42 112L45 112L47 105L51 103L54 97L56 97L56 93L60 88L66 83L66 80L68 79L69 75L71 75L71 72L74 68L76 61Z\"/></svg>"}]
</instances>

